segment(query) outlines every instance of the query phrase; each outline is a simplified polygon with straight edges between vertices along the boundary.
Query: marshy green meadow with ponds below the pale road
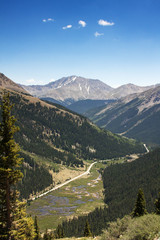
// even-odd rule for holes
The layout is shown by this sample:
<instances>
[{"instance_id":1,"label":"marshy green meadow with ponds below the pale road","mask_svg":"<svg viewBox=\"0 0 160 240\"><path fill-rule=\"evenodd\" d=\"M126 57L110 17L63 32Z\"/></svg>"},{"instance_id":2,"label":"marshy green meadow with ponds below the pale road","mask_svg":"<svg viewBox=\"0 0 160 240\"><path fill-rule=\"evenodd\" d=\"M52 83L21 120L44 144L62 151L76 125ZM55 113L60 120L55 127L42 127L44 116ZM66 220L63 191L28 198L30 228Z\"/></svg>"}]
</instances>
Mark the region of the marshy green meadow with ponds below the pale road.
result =
<instances>
[{"instance_id":1,"label":"marshy green meadow with ponds below the pale road","mask_svg":"<svg viewBox=\"0 0 160 240\"><path fill-rule=\"evenodd\" d=\"M90 175L30 203L27 212L32 216L37 215L41 231L55 229L66 219L86 215L96 207L104 206L103 183L97 171L102 166L102 163L95 164ZM84 226L82 236L83 233Z\"/></svg>"}]
</instances>

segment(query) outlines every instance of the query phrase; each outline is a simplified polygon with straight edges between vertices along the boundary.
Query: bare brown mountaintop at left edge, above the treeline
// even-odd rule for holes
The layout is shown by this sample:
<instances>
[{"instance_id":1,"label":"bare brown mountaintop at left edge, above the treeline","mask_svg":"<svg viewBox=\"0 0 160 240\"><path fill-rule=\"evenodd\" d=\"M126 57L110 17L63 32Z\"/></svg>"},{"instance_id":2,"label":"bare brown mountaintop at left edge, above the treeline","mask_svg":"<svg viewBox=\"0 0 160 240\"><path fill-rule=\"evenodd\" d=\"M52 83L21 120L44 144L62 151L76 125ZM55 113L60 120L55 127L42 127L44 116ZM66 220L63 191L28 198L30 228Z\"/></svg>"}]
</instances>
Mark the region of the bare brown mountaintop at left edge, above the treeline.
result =
<instances>
[{"instance_id":1,"label":"bare brown mountaintop at left edge, above the treeline","mask_svg":"<svg viewBox=\"0 0 160 240\"><path fill-rule=\"evenodd\" d=\"M23 87L7 78L3 73L0 73L0 88L14 90L19 93L29 94Z\"/></svg>"}]
</instances>

